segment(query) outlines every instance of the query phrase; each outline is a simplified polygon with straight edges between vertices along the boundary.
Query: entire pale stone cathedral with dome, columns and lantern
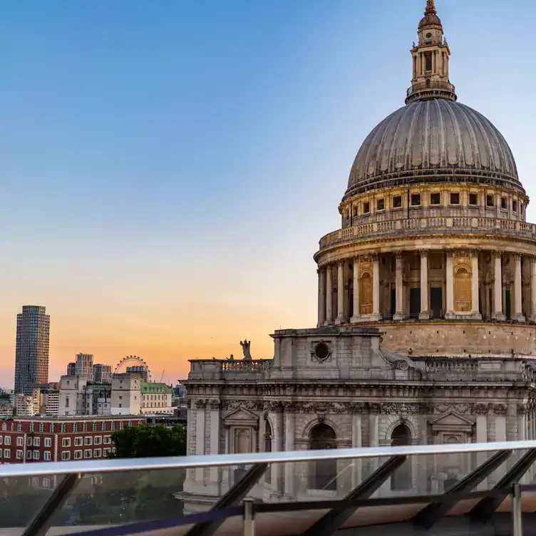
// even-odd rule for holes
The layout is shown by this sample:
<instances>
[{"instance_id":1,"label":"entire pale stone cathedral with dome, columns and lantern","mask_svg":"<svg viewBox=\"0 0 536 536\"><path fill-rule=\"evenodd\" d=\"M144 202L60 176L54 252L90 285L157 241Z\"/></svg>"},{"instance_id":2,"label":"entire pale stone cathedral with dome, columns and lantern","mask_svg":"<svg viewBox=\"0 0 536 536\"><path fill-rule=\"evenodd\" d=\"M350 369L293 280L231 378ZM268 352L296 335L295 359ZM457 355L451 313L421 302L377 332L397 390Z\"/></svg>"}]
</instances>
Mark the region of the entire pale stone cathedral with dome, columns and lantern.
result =
<instances>
[{"instance_id":1,"label":"entire pale stone cathedral with dome, columns and lantern","mask_svg":"<svg viewBox=\"0 0 536 536\"><path fill-rule=\"evenodd\" d=\"M449 58L428 0L406 105L361 145L341 229L314 256L316 328L276 331L273 360L247 341L244 360L192 360L188 453L536 439L536 225L512 151L458 103ZM483 459L410 460L378 493L441 493ZM377 460L295 465L254 493L344 495ZM241 470L189 470L187 504Z\"/></svg>"}]
</instances>

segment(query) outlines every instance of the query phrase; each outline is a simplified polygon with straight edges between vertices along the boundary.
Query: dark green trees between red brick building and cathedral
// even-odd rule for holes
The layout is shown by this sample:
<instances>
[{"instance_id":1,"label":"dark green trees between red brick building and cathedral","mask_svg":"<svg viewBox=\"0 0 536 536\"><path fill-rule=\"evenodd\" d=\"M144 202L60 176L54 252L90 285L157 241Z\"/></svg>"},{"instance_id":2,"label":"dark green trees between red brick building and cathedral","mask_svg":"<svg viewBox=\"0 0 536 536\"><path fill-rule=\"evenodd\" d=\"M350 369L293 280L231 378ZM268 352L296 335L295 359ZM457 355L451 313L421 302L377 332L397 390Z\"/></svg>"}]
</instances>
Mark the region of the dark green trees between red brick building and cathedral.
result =
<instances>
[{"instance_id":1,"label":"dark green trees between red brick building and cathedral","mask_svg":"<svg viewBox=\"0 0 536 536\"><path fill-rule=\"evenodd\" d=\"M154 458L155 456L183 456L186 454L186 428L175 424L166 428L161 424L127 426L112 434L115 452L111 458Z\"/></svg>"}]
</instances>

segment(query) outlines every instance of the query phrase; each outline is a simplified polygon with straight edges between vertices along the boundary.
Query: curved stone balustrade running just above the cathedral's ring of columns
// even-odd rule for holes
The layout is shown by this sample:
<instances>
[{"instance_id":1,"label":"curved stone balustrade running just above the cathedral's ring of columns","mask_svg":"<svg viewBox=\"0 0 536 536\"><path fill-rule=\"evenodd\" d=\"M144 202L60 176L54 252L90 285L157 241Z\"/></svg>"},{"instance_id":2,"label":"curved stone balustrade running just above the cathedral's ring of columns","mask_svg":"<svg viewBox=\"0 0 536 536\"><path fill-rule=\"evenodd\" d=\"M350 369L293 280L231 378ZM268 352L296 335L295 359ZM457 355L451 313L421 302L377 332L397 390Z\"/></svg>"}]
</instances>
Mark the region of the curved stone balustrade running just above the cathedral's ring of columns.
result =
<instances>
[{"instance_id":1,"label":"curved stone balustrade running just above the cathedral's ring of columns","mask_svg":"<svg viewBox=\"0 0 536 536\"><path fill-rule=\"evenodd\" d=\"M320 239L320 250L355 239L404 234L496 234L503 237L536 239L536 225L518 220L485 217L418 217L408 220L371 222L346 227Z\"/></svg>"}]
</instances>

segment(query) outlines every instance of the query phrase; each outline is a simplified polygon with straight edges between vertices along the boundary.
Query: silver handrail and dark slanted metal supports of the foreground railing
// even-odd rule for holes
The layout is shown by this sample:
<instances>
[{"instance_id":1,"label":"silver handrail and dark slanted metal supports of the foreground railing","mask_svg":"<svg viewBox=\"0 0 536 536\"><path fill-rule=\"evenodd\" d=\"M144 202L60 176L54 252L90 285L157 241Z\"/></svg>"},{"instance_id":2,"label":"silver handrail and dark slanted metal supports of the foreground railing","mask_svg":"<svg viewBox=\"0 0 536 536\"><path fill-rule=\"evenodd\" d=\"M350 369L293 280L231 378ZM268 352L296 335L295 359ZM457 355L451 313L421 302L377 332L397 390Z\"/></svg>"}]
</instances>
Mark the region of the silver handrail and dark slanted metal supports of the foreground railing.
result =
<instances>
[{"instance_id":1,"label":"silver handrail and dark slanted metal supports of the foreground railing","mask_svg":"<svg viewBox=\"0 0 536 536\"><path fill-rule=\"evenodd\" d=\"M493 490L472 493L472 489L480 483L489 473L498 468L506 458L515 450L528 450L524 458L514 465L512 469L495 486ZM373 490L376 490L396 468L409 456L435 455L450 453L485 453L493 452L495 455L479 468L467 475L460 483L437 496L413 496L401 498L370 499ZM115 473L122 471L140 470L170 470L178 468L208 468L225 467L229 465L251 465L252 467L212 508L203 515L184 516L173 520L158 520L157 522L140 522L133 525L103 529L102 536L135 534L157 530L158 527L178 526L196 522L189 536L211 536L227 517L242 515L244 517L244 536L254 535L254 514L260 512L276 512L290 510L316 510L330 508L330 512L314 525L313 532L309 530L304 534L319 533L329 536L334 534L341 523L361 505L392 505L426 503L424 510L413 520L421 527L431 527L440 517L443 517L459 500L467 498L482 498L485 503L486 515L489 517L500 504L498 498L505 495L512 497L512 535L522 536L522 490L535 490L535 486L522 486L518 483L522 475L530 468L536 455L536 440L510 441L498 443L470 443L466 445L408 445L396 447L372 447L372 448L346 448L329 450L299 450L291 452L253 453L253 454L228 454L228 455L194 455L174 456L170 458L130 458L110 460L81 460L78 462L49 462L32 463L29 465L1 465L0 478L30 477L36 475L65 475L46 504L33 517L23 536L45 536L51 527L53 517L65 505L68 495L76 487L83 475L91 473ZM389 458L376 473L360 483L346 498L334 501L319 501L313 503L279 503L274 505L252 504L244 500L245 495L262 477L270 463L297 463L317 460L350 460L366 458ZM377 477L377 478L376 478ZM502 487L504 486L504 487ZM463 493L462 493L463 492ZM488 504L491 502L492 505ZM240 504L242 502L242 504ZM331 504L332 503L332 504ZM483 503L484 504L484 503ZM483 505L481 505L483 506ZM194 518L195 517L195 521ZM155 525L153 527L153 525ZM151 528L153 527L153 529ZM100 530L89 531L93 535L100 534Z\"/></svg>"}]
</instances>

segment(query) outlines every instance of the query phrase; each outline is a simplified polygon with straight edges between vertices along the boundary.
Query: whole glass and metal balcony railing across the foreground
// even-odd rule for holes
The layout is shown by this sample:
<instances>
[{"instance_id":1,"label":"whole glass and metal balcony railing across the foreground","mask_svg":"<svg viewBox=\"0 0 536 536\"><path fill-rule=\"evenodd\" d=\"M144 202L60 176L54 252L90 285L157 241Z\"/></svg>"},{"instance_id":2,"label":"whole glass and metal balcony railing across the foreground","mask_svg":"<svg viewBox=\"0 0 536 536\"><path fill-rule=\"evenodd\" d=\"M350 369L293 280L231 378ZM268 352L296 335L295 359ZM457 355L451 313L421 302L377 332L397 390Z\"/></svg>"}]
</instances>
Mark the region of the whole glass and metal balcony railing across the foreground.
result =
<instances>
[{"instance_id":1,"label":"whole glass and metal balcony railing across the foreground","mask_svg":"<svg viewBox=\"0 0 536 536\"><path fill-rule=\"evenodd\" d=\"M0 532L522 536L535 460L530 440L1 465Z\"/></svg>"}]
</instances>

